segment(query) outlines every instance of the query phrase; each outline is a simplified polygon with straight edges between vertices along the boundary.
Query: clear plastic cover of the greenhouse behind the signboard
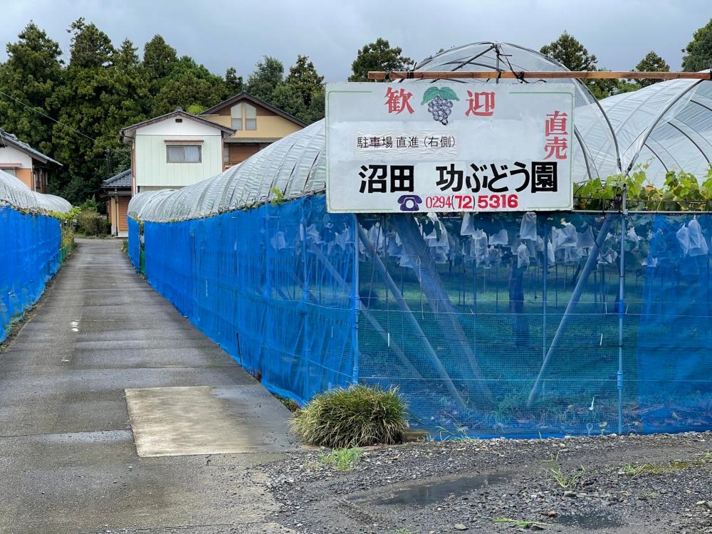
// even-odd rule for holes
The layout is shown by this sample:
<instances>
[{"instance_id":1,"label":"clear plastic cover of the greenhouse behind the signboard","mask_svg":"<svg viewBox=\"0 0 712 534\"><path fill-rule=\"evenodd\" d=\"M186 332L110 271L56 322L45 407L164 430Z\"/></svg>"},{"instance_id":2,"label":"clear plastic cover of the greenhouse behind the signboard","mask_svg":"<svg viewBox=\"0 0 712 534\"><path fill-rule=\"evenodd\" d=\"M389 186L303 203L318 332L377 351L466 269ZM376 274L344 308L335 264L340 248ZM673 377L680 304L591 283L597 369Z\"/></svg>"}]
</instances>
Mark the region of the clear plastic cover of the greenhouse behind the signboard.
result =
<instances>
[{"instance_id":1,"label":"clear plastic cover of the greenhouse behind the signboard","mask_svg":"<svg viewBox=\"0 0 712 534\"><path fill-rule=\"evenodd\" d=\"M494 42L451 48L426 58L416 69L567 70L536 51ZM670 80L597 102L578 80L551 81L571 83L576 88L574 172L578 182L625 172L637 164L649 165L647 175L654 184L661 184L669 170L706 175L712 161L712 82ZM519 82L501 79L467 83ZM315 122L216 177L179 191L138 194L128 214L139 220L183 221L263 204L273 199L276 191L286 200L323 192L324 142L324 122Z\"/></svg>"}]
</instances>

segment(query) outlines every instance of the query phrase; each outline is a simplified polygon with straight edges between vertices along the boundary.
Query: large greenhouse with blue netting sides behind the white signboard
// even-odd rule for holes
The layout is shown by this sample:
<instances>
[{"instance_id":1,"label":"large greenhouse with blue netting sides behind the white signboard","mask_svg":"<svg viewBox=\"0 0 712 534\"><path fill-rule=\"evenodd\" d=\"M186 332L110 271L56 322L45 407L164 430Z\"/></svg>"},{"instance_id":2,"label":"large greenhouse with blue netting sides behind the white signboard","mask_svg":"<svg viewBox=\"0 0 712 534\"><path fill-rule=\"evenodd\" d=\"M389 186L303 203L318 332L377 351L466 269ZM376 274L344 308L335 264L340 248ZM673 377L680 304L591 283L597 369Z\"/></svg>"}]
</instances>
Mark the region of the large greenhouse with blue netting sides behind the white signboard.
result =
<instances>
[{"instance_id":1,"label":"large greenhouse with blue netting sides behind the white signboard","mask_svg":"<svg viewBox=\"0 0 712 534\"><path fill-rule=\"evenodd\" d=\"M507 43L416 69L565 70ZM712 82L600 103L555 82L574 86L576 182L707 177ZM710 215L330 214L324 145L316 122L129 206L135 266L272 392L397 386L443 438L712 428Z\"/></svg>"}]
</instances>

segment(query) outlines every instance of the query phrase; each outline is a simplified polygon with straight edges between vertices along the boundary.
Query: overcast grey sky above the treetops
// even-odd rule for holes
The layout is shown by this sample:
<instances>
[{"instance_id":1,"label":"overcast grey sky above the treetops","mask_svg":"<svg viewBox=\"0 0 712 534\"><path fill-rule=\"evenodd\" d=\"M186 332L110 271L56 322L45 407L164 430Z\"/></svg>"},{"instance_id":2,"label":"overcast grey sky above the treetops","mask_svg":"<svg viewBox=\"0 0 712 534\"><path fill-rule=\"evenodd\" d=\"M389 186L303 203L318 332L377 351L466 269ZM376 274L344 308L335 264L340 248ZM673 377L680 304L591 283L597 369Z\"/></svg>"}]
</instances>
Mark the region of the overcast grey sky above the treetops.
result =
<instances>
[{"instance_id":1,"label":"overcast grey sky above the treetops","mask_svg":"<svg viewBox=\"0 0 712 534\"><path fill-rule=\"evenodd\" d=\"M630 70L650 50L679 70L681 48L712 17L711 0L6 0L0 41L30 21L68 50L66 28L83 16L115 45L142 50L160 33L179 55L214 73L234 66L247 78L263 55L286 68L309 56L328 81L345 80L358 48L389 39L422 59L439 48L507 41L538 49L568 31L599 67ZM4 61L4 47L0 61Z\"/></svg>"}]
</instances>

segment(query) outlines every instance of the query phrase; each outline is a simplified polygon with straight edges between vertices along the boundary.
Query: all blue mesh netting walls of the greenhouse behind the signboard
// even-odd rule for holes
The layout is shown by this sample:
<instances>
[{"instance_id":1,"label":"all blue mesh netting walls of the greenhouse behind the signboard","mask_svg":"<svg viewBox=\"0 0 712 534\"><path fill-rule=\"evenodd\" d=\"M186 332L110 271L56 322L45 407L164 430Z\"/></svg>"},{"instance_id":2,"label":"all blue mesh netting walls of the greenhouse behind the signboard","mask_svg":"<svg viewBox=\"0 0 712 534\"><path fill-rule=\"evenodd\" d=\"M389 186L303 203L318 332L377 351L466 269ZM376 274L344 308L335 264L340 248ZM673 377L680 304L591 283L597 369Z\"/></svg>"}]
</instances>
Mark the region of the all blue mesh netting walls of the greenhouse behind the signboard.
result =
<instances>
[{"instance_id":1,"label":"all blue mesh netting walls of the greenhouse behind the signboard","mask_svg":"<svg viewBox=\"0 0 712 534\"><path fill-rule=\"evenodd\" d=\"M316 196L144 232L150 283L300 402L398 385L443 437L607 434L619 410L622 431L712 428L711 216L356 219Z\"/></svg>"}]
</instances>

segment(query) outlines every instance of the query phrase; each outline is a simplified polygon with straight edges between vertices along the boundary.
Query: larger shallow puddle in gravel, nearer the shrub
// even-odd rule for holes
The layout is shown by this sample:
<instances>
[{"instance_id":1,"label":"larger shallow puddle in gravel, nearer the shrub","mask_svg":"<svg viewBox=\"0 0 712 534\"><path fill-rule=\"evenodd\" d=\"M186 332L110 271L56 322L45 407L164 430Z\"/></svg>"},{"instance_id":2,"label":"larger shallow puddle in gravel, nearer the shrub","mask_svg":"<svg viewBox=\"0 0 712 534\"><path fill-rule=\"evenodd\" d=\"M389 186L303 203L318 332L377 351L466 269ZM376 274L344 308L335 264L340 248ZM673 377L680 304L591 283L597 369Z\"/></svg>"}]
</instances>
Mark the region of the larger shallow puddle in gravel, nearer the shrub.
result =
<instances>
[{"instance_id":1,"label":"larger shallow puddle in gravel, nearer the shrub","mask_svg":"<svg viewBox=\"0 0 712 534\"><path fill-rule=\"evenodd\" d=\"M382 491L369 496L367 501L376 505L403 504L421 505L444 501L449 495L459 496L492 484L511 480L511 473L493 473L488 475L466 476L452 480L434 480L426 483L414 483L407 486ZM350 500L362 500L354 497Z\"/></svg>"}]
</instances>

